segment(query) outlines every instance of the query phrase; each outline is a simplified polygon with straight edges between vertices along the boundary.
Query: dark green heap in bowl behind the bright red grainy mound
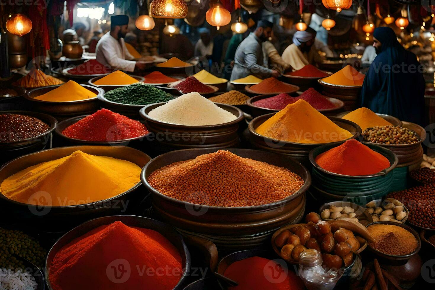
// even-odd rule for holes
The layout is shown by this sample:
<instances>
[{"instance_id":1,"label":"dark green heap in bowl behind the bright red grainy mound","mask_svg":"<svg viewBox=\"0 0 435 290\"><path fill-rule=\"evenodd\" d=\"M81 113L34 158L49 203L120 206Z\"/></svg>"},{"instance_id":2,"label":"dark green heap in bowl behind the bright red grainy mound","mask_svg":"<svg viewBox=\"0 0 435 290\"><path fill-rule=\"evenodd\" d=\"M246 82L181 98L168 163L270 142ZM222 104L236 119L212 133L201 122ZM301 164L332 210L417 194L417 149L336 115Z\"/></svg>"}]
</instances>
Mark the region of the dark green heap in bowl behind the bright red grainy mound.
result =
<instances>
[{"instance_id":1,"label":"dark green heap in bowl behind the bright red grainy mound","mask_svg":"<svg viewBox=\"0 0 435 290\"><path fill-rule=\"evenodd\" d=\"M129 105L149 105L167 102L174 97L170 93L144 83L134 83L130 86L119 87L104 94L107 100Z\"/></svg>"}]
</instances>

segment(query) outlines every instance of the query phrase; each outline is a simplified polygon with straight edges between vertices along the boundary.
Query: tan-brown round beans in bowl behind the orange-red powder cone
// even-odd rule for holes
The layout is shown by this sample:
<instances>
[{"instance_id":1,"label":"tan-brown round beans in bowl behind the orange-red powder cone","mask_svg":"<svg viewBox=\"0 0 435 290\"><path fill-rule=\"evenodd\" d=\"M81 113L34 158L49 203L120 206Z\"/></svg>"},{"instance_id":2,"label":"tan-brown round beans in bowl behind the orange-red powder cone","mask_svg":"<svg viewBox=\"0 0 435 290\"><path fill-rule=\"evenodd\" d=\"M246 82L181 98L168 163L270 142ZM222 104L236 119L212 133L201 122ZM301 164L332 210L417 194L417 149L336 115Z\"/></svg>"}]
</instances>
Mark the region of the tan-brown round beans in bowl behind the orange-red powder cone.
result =
<instances>
[{"instance_id":1,"label":"tan-brown round beans in bowl behind the orange-red powder cone","mask_svg":"<svg viewBox=\"0 0 435 290\"><path fill-rule=\"evenodd\" d=\"M413 130L400 126L376 126L362 132L364 141L379 144L412 144L420 140Z\"/></svg>"}]
</instances>

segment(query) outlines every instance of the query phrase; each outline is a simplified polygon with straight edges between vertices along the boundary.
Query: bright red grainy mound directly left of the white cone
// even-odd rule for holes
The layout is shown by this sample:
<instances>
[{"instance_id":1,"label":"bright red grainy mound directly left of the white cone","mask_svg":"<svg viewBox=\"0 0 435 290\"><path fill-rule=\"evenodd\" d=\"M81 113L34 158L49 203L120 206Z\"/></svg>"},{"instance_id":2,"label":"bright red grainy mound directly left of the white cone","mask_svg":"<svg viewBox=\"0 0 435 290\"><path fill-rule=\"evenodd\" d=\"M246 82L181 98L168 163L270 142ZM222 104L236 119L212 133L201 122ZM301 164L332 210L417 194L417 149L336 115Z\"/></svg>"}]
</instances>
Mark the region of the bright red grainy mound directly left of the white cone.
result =
<instances>
[{"instance_id":1,"label":"bright red grainy mound directly left of the white cone","mask_svg":"<svg viewBox=\"0 0 435 290\"><path fill-rule=\"evenodd\" d=\"M87 141L117 141L148 133L144 124L107 109L84 117L62 131L66 137Z\"/></svg>"}]
</instances>

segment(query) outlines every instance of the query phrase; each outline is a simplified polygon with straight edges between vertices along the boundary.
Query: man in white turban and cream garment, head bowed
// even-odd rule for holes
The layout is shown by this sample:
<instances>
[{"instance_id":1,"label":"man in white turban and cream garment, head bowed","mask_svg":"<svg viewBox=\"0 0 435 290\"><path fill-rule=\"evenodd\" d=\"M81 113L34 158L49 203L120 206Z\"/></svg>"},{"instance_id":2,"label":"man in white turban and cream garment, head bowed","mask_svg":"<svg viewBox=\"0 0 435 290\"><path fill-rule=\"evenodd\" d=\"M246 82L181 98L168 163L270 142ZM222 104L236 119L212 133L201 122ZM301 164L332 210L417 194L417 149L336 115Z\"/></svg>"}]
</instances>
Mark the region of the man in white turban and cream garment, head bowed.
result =
<instances>
[{"instance_id":1,"label":"man in white turban and cream garment, head bowed","mask_svg":"<svg viewBox=\"0 0 435 290\"><path fill-rule=\"evenodd\" d=\"M291 65L294 70L300 70L310 62L308 53L314 44L315 34L310 31L296 31L293 43L282 53L282 60Z\"/></svg>"}]
</instances>

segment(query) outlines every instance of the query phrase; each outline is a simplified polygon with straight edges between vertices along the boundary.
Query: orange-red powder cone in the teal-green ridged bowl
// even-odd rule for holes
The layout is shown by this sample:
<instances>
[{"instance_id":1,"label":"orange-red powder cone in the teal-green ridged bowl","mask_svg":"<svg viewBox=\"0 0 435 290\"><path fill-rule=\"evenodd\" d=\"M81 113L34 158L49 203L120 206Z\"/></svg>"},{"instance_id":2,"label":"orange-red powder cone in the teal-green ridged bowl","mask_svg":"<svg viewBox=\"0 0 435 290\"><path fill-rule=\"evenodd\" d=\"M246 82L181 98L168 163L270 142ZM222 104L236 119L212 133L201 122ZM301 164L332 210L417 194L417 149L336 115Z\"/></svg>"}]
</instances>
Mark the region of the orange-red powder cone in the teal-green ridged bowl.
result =
<instances>
[{"instance_id":1,"label":"orange-red powder cone in the teal-green ridged bowl","mask_svg":"<svg viewBox=\"0 0 435 290\"><path fill-rule=\"evenodd\" d=\"M332 173L370 175L390 167L390 161L358 140L350 139L316 157L317 164Z\"/></svg>"}]
</instances>

